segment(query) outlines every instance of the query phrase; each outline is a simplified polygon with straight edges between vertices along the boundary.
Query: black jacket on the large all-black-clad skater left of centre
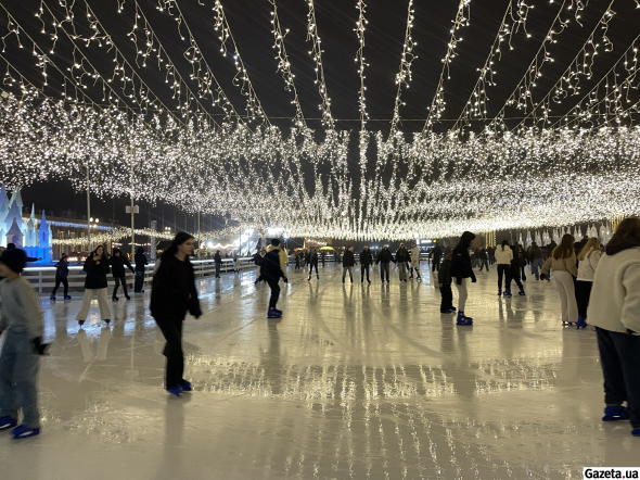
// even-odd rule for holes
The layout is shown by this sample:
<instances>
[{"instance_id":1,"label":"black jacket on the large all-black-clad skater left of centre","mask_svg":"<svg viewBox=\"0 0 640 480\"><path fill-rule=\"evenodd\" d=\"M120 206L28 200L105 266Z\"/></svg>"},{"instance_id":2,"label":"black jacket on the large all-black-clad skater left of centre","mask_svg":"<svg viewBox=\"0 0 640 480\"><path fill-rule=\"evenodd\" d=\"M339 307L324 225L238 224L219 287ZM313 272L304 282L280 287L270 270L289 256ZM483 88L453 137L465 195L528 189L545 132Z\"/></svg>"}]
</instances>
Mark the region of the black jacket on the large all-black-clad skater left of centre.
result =
<instances>
[{"instance_id":1,"label":"black jacket on the large all-black-clad skater left of centre","mask_svg":"<svg viewBox=\"0 0 640 480\"><path fill-rule=\"evenodd\" d=\"M149 308L155 319L167 317L183 319L187 312L194 317L202 315L195 290L195 274L189 257L184 262L178 260L176 255L163 258L153 277Z\"/></svg>"}]
</instances>

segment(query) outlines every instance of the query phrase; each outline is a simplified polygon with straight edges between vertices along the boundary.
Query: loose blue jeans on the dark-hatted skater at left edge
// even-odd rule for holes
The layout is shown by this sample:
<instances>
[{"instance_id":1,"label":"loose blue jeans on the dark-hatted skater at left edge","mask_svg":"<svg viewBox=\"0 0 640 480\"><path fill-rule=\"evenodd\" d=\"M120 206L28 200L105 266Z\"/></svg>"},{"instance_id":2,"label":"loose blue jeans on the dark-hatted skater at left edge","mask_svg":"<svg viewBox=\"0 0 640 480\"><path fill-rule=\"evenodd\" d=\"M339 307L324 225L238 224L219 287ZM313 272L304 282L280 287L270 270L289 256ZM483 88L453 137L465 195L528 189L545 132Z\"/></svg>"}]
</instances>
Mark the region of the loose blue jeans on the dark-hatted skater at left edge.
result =
<instances>
[{"instance_id":1,"label":"loose blue jeans on the dark-hatted skater at left edge","mask_svg":"<svg viewBox=\"0 0 640 480\"><path fill-rule=\"evenodd\" d=\"M0 354L0 416L17 419L22 408L23 425L40 428L38 409L39 358L26 331L10 328L4 333Z\"/></svg>"}]
</instances>

